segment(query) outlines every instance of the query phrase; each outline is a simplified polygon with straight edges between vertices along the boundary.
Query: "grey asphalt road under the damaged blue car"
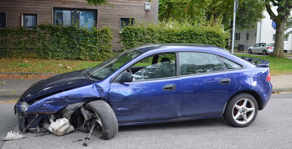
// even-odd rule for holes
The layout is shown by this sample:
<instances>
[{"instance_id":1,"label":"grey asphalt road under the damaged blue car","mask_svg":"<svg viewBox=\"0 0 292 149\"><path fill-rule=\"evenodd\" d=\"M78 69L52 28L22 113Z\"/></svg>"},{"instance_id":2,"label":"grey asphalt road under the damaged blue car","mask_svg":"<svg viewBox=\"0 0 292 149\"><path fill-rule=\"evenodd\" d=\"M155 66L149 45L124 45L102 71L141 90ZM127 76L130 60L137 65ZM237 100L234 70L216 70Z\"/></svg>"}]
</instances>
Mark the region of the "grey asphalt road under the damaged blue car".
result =
<instances>
[{"instance_id":1,"label":"grey asphalt road under the damaged blue car","mask_svg":"<svg viewBox=\"0 0 292 149\"><path fill-rule=\"evenodd\" d=\"M5 110L2 110L5 108ZM0 103L1 138L16 125L13 104ZM101 140L94 136L82 145L88 135L75 130L64 136L27 132L19 140L0 141L2 148L291 148L292 92L273 94L265 109L247 127L228 125L224 118L179 123L119 127L116 137ZM5 116L6 114L6 116ZM13 124L13 125L12 125ZM7 125L7 126L6 126ZM5 130L7 128L7 130ZM17 130L17 127L14 128Z\"/></svg>"}]
</instances>

